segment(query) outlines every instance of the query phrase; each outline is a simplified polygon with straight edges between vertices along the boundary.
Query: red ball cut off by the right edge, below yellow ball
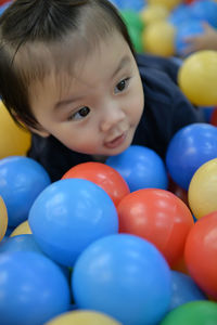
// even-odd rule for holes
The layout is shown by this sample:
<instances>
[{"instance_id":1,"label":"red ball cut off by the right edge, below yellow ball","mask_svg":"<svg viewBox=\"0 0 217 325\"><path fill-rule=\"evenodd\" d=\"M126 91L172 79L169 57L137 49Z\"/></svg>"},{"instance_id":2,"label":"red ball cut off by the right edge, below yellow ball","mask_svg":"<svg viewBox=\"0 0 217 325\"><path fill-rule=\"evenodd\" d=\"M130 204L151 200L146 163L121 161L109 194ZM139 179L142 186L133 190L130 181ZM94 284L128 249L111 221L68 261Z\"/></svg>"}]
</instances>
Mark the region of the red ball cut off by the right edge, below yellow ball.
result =
<instances>
[{"instance_id":1,"label":"red ball cut off by the right edge, below yellow ball","mask_svg":"<svg viewBox=\"0 0 217 325\"><path fill-rule=\"evenodd\" d=\"M204 216L191 229L184 260L202 290L217 299L217 211Z\"/></svg>"}]
</instances>

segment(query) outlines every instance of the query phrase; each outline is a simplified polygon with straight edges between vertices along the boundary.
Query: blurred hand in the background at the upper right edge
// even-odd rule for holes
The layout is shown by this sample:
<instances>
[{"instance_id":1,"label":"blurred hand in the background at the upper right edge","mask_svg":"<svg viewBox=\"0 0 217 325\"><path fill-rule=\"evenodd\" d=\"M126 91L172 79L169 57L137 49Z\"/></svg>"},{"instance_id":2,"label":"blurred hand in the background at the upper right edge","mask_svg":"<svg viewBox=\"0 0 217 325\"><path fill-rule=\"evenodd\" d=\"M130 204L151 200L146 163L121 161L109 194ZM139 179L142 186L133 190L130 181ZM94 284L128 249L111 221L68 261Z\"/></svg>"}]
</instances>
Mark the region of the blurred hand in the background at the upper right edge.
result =
<instances>
[{"instance_id":1,"label":"blurred hand in the background at the upper right edge","mask_svg":"<svg viewBox=\"0 0 217 325\"><path fill-rule=\"evenodd\" d=\"M217 30L206 22L203 22L202 25L203 34L184 38L188 47L183 50L183 55L200 50L217 50Z\"/></svg>"}]
</instances>

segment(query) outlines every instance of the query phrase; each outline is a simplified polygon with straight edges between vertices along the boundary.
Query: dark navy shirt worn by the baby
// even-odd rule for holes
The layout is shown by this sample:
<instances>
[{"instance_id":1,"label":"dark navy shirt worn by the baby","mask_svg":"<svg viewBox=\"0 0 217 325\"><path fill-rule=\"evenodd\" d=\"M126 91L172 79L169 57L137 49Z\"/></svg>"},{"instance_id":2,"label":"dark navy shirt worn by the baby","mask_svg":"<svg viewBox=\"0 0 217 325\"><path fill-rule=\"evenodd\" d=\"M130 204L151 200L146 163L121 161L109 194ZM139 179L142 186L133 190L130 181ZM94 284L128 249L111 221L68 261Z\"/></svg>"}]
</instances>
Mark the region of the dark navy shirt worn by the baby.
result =
<instances>
[{"instance_id":1,"label":"dark navy shirt worn by the baby","mask_svg":"<svg viewBox=\"0 0 217 325\"><path fill-rule=\"evenodd\" d=\"M177 86L179 66L175 61L145 54L137 55L137 63L144 90L144 109L132 144L148 146L164 159L173 135L203 118ZM33 134L28 156L46 168L52 181L60 180L77 164L93 161L92 156L68 150L52 135Z\"/></svg>"}]
</instances>

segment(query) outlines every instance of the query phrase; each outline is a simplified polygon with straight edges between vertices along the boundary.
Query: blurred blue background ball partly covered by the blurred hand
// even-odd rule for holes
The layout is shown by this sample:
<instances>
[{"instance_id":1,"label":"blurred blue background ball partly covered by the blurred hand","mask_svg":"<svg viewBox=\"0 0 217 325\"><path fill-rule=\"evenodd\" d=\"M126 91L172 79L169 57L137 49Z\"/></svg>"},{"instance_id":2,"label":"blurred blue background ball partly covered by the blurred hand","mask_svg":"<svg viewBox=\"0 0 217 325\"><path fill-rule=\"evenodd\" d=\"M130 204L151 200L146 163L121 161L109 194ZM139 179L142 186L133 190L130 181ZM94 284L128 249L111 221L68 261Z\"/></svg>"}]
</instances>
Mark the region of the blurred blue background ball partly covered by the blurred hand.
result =
<instances>
[{"instance_id":1,"label":"blurred blue background ball partly covered by the blurred hand","mask_svg":"<svg viewBox=\"0 0 217 325\"><path fill-rule=\"evenodd\" d=\"M184 38L202 35L203 32L204 28L202 26L202 22L200 21L189 20L186 23L180 24L177 27L177 32L175 36L176 53L178 55L183 55L183 51L189 47L189 44L184 42Z\"/></svg>"}]
</instances>

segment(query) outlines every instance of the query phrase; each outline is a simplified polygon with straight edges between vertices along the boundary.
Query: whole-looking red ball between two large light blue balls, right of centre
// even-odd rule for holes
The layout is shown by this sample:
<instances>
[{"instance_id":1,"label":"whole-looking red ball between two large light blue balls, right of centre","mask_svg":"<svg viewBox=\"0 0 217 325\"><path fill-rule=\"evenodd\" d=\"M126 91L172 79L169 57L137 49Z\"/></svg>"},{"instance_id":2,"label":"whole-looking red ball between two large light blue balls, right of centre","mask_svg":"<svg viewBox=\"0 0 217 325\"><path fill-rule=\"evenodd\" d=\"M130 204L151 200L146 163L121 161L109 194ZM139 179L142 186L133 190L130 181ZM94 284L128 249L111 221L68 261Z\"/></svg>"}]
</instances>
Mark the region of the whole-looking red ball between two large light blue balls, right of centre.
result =
<instances>
[{"instance_id":1,"label":"whole-looking red ball between two large light blue balls, right of centre","mask_svg":"<svg viewBox=\"0 0 217 325\"><path fill-rule=\"evenodd\" d=\"M173 193L158 188L132 192L117 206L119 232L138 235L154 244L170 265L183 255L193 218Z\"/></svg>"}]
</instances>

